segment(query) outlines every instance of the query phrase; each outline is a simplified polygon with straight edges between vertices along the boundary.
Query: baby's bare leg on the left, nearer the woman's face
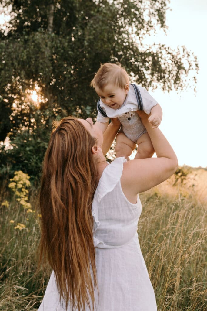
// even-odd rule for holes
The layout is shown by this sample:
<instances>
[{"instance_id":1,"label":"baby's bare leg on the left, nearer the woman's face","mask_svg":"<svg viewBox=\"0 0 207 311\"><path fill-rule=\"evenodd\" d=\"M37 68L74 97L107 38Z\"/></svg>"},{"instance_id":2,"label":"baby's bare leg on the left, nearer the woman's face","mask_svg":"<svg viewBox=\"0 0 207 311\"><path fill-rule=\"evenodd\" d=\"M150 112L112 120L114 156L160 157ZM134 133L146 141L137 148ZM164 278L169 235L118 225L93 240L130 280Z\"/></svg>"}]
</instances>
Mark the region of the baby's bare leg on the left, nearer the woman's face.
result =
<instances>
[{"instance_id":1,"label":"baby's bare leg on the left, nearer the woman's face","mask_svg":"<svg viewBox=\"0 0 207 311\"><path fill-rule=\"evenodd\" d=\"M116 157L124 156L128 161L129 156L131 156L132 151L136 148L136 144L131 141L126 135L122 132L119 132L116 135Z\"/></svg>"}]
</instances>

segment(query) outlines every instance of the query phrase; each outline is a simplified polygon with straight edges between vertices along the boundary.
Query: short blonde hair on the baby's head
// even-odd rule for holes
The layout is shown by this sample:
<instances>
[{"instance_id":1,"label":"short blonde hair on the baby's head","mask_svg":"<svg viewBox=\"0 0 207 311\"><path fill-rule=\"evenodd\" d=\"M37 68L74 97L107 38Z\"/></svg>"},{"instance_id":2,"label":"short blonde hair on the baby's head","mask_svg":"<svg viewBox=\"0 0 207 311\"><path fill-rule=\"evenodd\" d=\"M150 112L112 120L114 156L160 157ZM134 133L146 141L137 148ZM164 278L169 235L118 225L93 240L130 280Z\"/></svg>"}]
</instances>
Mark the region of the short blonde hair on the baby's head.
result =
<instances>
[{"instance_id":1,"label":"short blonde hair on the baby's head","mask_svg":"<svg viewBox=\"0 0 207 311\"><path fill-rule=\"evenodd\" d=\"M101 91L103 91L103 88L109 83L114 84L121 89L124 89L124 86L129 84L128 74L124 67L121 67L120 63L101 64L93 80L91 81L90 86L99 88Z\"/></svg>"}]
</instances>

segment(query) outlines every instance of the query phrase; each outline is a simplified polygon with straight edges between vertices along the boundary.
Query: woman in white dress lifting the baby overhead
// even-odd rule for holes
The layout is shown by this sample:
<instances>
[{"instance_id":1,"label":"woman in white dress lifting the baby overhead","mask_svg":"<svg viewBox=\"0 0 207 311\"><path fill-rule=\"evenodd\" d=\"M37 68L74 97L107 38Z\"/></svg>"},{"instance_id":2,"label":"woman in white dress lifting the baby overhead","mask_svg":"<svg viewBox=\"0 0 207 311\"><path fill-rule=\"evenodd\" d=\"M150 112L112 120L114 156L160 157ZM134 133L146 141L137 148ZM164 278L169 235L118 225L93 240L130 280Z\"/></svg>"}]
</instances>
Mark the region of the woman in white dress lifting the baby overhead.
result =
<instances>
[{"instance_id":1,"label":"woman in white dress lifting the baby overhead","mask_svg":"<svg viewBox=\"0 0 207 311\"><path fill-rule=\"evenodd\" d=\"M137 238L137 194L169 178L177 158L149 116L137 113L157 158L108 165L103 153L119 126L109 125L103 143L91 118L64 118L51 134L40 191L40 258L53 272L39 311L157 310Z\"/></svg>"}]
</instances>

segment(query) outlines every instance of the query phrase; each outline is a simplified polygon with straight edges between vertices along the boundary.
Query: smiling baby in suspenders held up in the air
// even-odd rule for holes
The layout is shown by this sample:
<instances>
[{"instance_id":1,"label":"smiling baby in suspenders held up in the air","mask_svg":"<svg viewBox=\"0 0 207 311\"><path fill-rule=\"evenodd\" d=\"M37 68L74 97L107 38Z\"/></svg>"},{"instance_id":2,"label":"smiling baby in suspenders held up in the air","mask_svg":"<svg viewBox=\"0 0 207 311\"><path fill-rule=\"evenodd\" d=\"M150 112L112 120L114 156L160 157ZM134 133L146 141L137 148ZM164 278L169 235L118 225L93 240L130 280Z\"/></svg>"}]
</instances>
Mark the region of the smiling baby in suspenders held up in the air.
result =
<instances>
[{"instance_id":1,"label":"smiling baby in suspenders held up in the air","mask_svg":"<svg viewBox=\"0 0 207 311\"><path fill-rule=\"evenodd\" d=\"M129 160L138 145L135 159L150 158L154 148L136 111L144 110L151 114L148 120L152 128L157 128L162 119L162 109L156 100L144 87L129 84L128 74L119 63L101 65L91 86L100 96L95 126L104 133L110 118L118 118L121 123L116 137L116 156Z\"/></svg>"}]
</instances>

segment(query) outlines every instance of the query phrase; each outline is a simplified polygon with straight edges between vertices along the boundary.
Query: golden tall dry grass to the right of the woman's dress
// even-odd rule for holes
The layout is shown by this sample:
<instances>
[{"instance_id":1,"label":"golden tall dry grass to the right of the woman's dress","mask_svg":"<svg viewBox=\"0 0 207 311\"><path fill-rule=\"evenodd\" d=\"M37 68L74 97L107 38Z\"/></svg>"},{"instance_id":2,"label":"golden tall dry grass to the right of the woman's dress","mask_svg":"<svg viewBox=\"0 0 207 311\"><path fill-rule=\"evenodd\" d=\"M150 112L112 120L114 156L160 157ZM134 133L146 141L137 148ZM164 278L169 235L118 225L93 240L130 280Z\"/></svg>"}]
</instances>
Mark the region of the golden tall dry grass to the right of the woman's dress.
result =
<instances>
[{"instance_id":1,"label":"golden tall dry grass to the right of the woman's dress","mask_svg":"<svg viewBox=\"0 0 207 311\"><path fill-rule=\"evenodd\" d=\"M207 184L207 172L205 176ZM138 234L142 253L159 311L204 311L207 189L201 196L198 184L172 184L170 179L140 196L143 212Z\"/></svg>"}]
</instances>

